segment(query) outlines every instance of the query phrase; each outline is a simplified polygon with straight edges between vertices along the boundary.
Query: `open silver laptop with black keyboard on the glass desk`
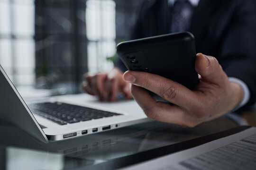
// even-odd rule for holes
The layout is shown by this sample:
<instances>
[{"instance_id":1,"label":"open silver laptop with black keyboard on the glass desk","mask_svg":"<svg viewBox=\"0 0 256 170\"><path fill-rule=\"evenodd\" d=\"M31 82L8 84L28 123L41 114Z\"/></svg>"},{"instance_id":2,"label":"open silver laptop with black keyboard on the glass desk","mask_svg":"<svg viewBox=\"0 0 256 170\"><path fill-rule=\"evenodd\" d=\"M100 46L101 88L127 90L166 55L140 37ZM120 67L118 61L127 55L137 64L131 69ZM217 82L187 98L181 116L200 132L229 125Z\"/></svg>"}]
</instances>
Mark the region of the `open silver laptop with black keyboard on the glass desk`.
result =
<instances>
[{"instance_id":1,"label":"open silver laptop with black keyboard on the glass desk","mask_svg":"<svg viewBox=\"0 0 256 170\"><path fill-rule=\"evenodd\" d=\"M74 94L25 102L1 65L0 118L45 143L150 121L133 100L99 102Z\"/></svg>"}]
</instances>

